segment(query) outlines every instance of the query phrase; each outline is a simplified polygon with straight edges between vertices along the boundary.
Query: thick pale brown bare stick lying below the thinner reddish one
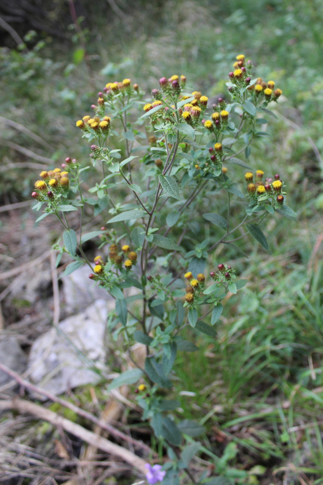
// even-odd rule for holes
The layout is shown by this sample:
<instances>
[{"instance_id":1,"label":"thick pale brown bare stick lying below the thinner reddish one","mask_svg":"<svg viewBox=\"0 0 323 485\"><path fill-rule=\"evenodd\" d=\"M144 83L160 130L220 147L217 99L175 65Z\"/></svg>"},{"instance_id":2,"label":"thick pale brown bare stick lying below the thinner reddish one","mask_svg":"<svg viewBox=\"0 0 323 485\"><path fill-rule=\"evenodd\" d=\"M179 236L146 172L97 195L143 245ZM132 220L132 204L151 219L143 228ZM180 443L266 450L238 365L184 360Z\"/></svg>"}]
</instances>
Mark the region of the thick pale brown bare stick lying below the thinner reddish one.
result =
<instances>
[{"instance_id":1,"label":"thick pale brown bare stick lying below the thinner reddish one","mask_svg":"<svg viewBox=\"0 0 323 485\"><path fill-rule=\"evenodd\" d=\"M74 436L86 441L87 443L96 446L100 450L118 456L123 461L137 469L140 473L146 473L145 461L134 453L125 448L112 443L102 436L97 436L92 431L84 429L77 423L74 423L66 418L62 418L58 414L46 409L38 404L33 404L24 399L14 398L0 401L0 410L15 409L21 413L28 413L36 416L38 419L45 420L54 426L61 427L63 430L71 433Z\"/></svg>"}]
</instances>

